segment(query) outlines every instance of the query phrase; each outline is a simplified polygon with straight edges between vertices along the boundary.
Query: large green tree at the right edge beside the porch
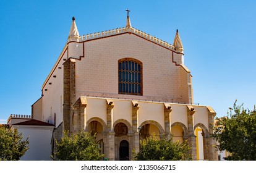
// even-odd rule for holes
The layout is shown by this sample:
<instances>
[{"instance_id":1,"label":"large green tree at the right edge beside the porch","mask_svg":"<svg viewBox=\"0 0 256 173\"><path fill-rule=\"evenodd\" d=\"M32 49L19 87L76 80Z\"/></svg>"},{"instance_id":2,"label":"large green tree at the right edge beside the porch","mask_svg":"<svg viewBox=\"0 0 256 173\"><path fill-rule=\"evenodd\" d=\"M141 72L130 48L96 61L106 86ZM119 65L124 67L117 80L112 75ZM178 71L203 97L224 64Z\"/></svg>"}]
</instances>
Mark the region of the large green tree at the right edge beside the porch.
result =
<instances>
[{"instance_id":1,"label":"large green tree at the right edge beside the porch","mask_svg":"<svg viewBox=\"0 0 256 173\"><path fill-rule=\"evenodd\" d=\"M227 117L216 118L213 138L218 141L218 150L229 151L226 160L256 160L256 110L245 110L234 103L234 111Z\"/></svg>"}]
</instances>

